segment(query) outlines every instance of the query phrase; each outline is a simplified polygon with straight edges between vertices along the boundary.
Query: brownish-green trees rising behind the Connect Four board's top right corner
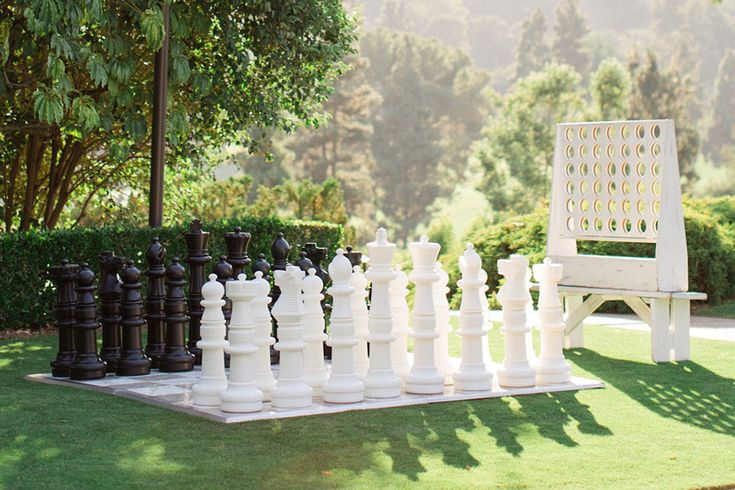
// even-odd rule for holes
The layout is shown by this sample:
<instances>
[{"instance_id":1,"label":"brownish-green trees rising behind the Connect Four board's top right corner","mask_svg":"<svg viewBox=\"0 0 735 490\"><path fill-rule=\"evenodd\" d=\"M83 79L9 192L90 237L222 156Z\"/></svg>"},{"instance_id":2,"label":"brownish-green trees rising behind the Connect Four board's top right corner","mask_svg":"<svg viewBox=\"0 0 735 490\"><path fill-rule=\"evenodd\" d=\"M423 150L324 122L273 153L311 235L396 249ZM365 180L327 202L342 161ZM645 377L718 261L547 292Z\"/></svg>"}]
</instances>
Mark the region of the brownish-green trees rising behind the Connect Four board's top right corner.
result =
<instances>
[{"instance_id":1,"label":"brownish-green trees rising behind the Connect Four board's top right corner","mask_svg":"<svg viewBox=\"0 0 735 490\"><path fill-rule=\"evenodd\" d=\"M694 161L699 153L699 132L689 115L689 106L695 103L690 80L676 64L660 71L656 56L650 51L645 60L638 53L631 53L628 70L633 81L628 118L674 121L679 174L685 189L689 189L696 179Z\"/></svg>"}]
</instances>

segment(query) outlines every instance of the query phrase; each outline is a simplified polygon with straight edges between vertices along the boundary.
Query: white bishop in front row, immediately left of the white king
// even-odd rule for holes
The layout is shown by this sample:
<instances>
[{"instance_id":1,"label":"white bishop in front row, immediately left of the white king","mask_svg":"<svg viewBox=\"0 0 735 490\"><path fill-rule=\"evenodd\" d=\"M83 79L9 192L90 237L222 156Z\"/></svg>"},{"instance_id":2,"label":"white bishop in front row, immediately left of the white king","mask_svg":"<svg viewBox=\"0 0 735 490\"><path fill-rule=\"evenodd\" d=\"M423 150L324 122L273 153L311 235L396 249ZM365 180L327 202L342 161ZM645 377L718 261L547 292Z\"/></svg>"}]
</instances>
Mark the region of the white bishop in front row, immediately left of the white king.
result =
<instances>
[{"instance_id":1,"label":"white bishop in front row, immediately left of the white king","mask_svg":"<svg viewBox=\"0 0 735 490\"><path fill-rule=\"evenodd\" d=\"M332 315L329 340L332 347L332 371L324 383L324 401L327 403L356 403L365 398L365 385L355 372L355 321L352 317L350 296L355 289L350 286L352 268L342 249L329 264L332 286L327 294L332 296Z\"/></svg>"}]
</instances>

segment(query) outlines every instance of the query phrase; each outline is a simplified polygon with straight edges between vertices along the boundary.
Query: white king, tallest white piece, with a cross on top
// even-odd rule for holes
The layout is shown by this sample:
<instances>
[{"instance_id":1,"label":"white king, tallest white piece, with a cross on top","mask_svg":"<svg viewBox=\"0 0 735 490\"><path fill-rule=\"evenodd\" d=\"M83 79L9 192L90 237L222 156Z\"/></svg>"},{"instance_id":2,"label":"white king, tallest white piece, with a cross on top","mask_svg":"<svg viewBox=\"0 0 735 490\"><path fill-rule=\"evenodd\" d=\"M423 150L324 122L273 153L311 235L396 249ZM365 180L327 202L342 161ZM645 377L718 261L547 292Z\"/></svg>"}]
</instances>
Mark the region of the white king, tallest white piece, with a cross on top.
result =
<instances>
[{"instance_id":1,"label":"white king, tallest white piece, with a cross on top","mask_svg":"<svg viewBox=\"0 0 735 490\"><path fill-rule=\"evenodd\" d=\"M370 268L366 277L373 284L370 301L368 330L370 335L370 367L365 377L365 396L370 398L393 398L401 394L401 379L393 372L391 365L390 281L396 278L391 261L396 249L387 238L385 228L379 228L375 241L367 244Z\"/></svg>"}]
</instances>

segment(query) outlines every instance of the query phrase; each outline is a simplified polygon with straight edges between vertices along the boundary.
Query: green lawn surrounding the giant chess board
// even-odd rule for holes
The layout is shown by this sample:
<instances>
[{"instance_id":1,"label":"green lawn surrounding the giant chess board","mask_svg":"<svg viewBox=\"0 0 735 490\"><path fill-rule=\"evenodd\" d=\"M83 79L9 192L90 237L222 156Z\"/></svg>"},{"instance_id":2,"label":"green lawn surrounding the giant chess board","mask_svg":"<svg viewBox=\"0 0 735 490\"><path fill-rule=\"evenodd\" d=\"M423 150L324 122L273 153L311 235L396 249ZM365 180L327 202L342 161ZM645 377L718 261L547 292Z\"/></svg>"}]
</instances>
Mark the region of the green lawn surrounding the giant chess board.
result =
<instances>
[{"instance_id":1,"label":"green lawn surrounding the giant chess board","mask_svg":"<svg viewBox=\"0 0 735 490\"><path fill-rule=\"evenodd\" d=\"M607 388L223 425L32 383L54 339L0 342L7 488L693 488L735 484L734 344L589 327L574 372ZM456 348L456 343L453 344ZM495 329L493 355L501 358Z\"/></svg>"}]
</instances>

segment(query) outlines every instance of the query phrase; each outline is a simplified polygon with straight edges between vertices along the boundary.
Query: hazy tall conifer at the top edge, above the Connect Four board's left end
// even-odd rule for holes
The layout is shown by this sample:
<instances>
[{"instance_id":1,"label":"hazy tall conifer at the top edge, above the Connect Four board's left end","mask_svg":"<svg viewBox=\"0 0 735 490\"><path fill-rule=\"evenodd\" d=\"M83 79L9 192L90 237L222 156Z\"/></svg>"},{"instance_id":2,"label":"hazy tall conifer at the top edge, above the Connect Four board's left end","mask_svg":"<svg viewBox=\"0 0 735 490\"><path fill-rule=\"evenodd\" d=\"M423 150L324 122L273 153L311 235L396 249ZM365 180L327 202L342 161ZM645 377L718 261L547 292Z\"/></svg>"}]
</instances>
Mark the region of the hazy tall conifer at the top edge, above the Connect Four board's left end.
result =
<instances>
[{"instance_id":1,"label":"hazy tall conifer at the top edge, above the Connect Four board's left end","mask_svg":"<svg viewBox=\"0 0 735 490\"><path fill-rule=\"evenodd\" d=\"M589 29L576 0L563 0L556 7L554 39L551 52L554 60L572 66L578 73L587 73L589 57L582 49Z\"/></svg>"}]
</instances>

